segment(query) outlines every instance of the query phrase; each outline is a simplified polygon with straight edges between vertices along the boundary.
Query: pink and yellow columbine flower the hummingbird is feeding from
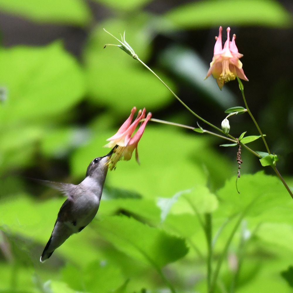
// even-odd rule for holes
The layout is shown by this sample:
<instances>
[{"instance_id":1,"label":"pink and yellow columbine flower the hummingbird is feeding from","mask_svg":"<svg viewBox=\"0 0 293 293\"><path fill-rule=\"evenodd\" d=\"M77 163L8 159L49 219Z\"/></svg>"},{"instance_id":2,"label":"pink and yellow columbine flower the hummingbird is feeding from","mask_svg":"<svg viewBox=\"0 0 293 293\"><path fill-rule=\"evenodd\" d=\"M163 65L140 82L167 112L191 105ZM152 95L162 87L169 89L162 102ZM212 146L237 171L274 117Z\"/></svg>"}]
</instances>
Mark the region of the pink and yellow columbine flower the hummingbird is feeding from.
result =
<instances>
[{"instance_id":1,"label":"pink and yellow columbine flower the hummingbird is feeding from","mask_svg":"<svg viewBox=\"0 0 293 293\"><path fill-rule=\"evenodd\" d=\"M110 142L106 144L105 147L115 148L115 146L117 146L114 149L111 159L108 161L110 170L113 170L115 168L115 165L122 157L126 161L130 160L134 150L136 161L139 164L137 145L142 137L142 134L144 133L147 122L149 121L149 119L151 119L151 113L148 113L147 117L145 118L146 109L144 108L143 110L139 110L136 119L132 122L135 111L136 107L133 107L130 116L122 124L117 133L107 139ZM132 136L135 128L139 124L139 121L144 118L145 120L142 122L134 136Z\"/></svg>"}]
</instances>

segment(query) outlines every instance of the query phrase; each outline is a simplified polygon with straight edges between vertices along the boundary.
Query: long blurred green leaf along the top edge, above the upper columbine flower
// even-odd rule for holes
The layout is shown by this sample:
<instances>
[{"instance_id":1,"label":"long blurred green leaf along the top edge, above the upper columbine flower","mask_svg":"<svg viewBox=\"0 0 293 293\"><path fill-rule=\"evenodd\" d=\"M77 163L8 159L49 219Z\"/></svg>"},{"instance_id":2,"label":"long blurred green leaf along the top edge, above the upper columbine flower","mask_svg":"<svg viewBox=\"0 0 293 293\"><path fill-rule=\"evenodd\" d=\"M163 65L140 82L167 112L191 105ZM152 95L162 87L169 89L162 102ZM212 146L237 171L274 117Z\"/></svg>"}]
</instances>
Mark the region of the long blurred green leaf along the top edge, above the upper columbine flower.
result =
<instances>
[{"instance_id":1,"label":"long blurred green leaf along the top edge, above the upper columbine flower","mask_svg":"<svg viewBox=\"0 0 293 293\"><path fill-rule=\"evenodd\" d=\"M196 1L175 7L165 17L177 28L211 27L219 23L288 27L292 23L289 12L272 0Z\"/></svg>"}]
</instances>

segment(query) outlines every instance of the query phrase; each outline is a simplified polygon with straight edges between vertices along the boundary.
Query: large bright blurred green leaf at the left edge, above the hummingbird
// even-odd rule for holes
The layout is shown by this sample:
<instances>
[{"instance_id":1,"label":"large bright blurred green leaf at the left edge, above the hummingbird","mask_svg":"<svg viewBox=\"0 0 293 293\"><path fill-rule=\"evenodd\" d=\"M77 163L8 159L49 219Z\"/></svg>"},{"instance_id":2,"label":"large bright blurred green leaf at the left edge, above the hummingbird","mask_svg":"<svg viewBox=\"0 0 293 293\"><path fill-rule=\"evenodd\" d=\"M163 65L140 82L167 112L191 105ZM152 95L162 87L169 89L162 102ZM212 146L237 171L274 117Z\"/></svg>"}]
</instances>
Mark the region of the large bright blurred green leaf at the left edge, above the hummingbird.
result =
<instances>
[{"instance_id":1,"label":"large bright blurred green leaf at the left edge, above the hummingbird","mask_svg":"<svg viewBox=\"0 0 293 293\"><path fill-rule=\"evenodd\" d=\"M48 116L59 118L85 94L81 67L59 41L0 50L0 68L1 83L8 88L0 122L16 123L15 128L20 121L36 124Z\"/></svg>"}]
</instances>

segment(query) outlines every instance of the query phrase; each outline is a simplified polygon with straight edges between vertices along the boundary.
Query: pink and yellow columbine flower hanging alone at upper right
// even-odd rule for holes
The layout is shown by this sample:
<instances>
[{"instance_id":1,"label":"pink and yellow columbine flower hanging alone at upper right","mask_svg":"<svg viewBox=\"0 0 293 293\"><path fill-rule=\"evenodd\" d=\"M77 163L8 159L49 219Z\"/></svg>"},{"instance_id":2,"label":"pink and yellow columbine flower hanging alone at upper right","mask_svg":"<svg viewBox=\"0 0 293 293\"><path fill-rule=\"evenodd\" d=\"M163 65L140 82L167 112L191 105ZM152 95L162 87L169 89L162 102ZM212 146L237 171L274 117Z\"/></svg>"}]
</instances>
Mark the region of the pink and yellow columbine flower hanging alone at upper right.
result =
<instances>
[{"instance_id":1,"label":"pink and yellow columbine flower hanging alone at upper right","mask_svg":"<svg viewBox=\"0 0 293 293\"><path fill-rule=\"evenodd\" d=\"M235 44L236 35L233 35L230 42L230 28L227 28L227 40L222 48L222 26L219 28L219 36L216 37L216 43L214 46L214 57L210 63L207 77L211 74L217 80L217 84L220 89L224 86L225 82L234 80L236 77L248 81L245 76L242 63L239 60L243 55L238 52Z\"/></svg>"}]
</instances>

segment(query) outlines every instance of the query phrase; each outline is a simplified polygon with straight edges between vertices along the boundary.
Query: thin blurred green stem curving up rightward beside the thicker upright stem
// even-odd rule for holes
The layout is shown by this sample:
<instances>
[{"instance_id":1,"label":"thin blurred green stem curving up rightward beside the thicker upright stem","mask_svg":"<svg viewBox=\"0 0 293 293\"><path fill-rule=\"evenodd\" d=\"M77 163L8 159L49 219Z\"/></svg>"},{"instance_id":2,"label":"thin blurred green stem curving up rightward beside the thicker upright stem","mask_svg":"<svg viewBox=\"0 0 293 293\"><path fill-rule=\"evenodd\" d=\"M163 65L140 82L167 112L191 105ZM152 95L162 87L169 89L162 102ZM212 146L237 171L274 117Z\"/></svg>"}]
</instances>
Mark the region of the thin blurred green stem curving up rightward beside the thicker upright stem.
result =
<instances>
[{"instance_id":1,"label":"thin blurred green stem curving up rightward beside the thicker upright stem","mask_svg":"<svg viewBox=\"0 0 293 293\"><path fill-rule=\"evenodd\" d=\"M226 254L227 254L228 248L229 248L229 246L230 246L230 244L231 244L231 241L232 241L232 239L233 239L233 237L234 237L234 234L236 233L236 231L237 231L237 229L238 229L238 227L239 227L239 225L240 225L242 219L243 219L244 216L246 215L247 211L248 211L248 210L251 208L251 206L254 204L255 200L256 200L256 199L254 199L253 201L251 201L251 203L248 204L248 206L247 206L247 207L243 210L243 212L240 214L239 219L237 220L237 222L236 222L236 224L235 224L235 226L234 226L234 228L233 228L233 230L232 230L232 232L231 232L231 234L230 234L230 236L229 236L229 238L228 238L228 240L227 240L227 242L226 242L226 245L225 245L225 247L224 247L224 250L223 250L223 252L221 253L221 255L220 255L220 257L219 257L218 262L217 262L217 266L216 266L216 268L215 268L215 270L214 270L214 276L213 276L213 279L212 279L212 284L211 284L210 290L208 291L209 293L214 292L215 286L216 286L216 284L217 284L217 278L218 278L218 275L219 275L219 272L220 272L220 269L221 269L221 266L222 266L222 262L223 262L223 260L224 260L224 257L225 257Z\"/></svg>"}]
</instances>

